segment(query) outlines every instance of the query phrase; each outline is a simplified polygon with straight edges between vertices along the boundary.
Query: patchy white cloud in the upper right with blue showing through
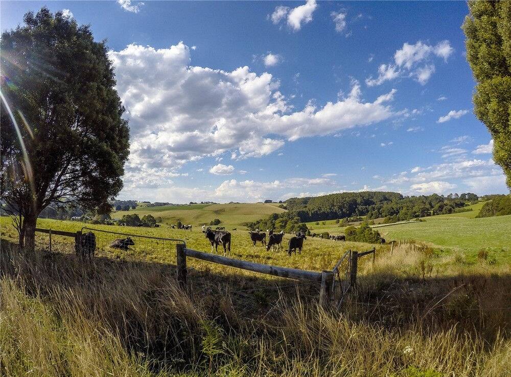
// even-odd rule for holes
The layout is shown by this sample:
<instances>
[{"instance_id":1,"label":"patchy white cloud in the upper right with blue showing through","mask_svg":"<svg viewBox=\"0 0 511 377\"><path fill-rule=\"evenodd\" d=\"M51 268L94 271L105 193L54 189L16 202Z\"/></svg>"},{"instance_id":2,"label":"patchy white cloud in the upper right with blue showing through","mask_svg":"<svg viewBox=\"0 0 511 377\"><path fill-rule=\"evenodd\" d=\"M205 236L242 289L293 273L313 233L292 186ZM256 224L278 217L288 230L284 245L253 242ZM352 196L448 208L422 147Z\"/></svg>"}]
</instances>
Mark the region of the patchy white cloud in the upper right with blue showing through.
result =
<instances>
[{"instance_id":1,"label":"patchy white cloud in the upper right with blue showing through","mask_svg":"<svg viewBox=\"0 0 511 377\"><path fill-rule=\"evenodd\" d=\"M438 42L434 46L422 41L415 44L405 42L403 47L394 53L394 62L381 64L378 67L378 76L376 78L371 76L365 82L368 86L375 86L398 77L411 77L424 85L435 72L433 58L440 57L447 61L453 52L454 49L448 40Z\"/></svg>"}]
</instances>

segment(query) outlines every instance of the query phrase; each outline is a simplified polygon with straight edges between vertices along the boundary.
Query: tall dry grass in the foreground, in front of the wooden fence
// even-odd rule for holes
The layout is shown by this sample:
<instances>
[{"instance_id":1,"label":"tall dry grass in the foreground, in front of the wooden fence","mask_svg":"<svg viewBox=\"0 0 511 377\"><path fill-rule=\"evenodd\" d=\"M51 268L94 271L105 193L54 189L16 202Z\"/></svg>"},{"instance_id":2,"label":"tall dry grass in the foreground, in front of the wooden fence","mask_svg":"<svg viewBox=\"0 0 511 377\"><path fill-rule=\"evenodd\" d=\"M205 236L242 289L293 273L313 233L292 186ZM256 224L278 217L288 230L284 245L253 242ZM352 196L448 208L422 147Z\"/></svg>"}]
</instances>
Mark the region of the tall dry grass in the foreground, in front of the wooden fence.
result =
<instances>
[{"instance_id":1,"label":"tall dry grass in the foreground, in front of the wooden fence","mask_svg":"<svg viewBox=\"0 0 511 377\"><path fill-rule=\"evenodd\" d=\"M421 257L403 256L411 266ZM318 307L312 288L279 294L265 280L252 281L261 289L249 291L243 281L240 292L235 283L242 278L201 271L190 273L183 291L166 265L83 265L7 244L0 262L3 375L431 377L511 370L509 312L499 317L483 310L484 302L468 310L458 301L479 297L483 283L473 276L445 299L453 301L435 307L429 298L449 293L454 280L403 277L398 263L379 257L378 266L363 267L367 275L338 312ZM454 299L456 292L463 295ZM508 296L502 300L509 306ZM472 312L485 320L459 320Z\"/></svg>"}]
</instances>

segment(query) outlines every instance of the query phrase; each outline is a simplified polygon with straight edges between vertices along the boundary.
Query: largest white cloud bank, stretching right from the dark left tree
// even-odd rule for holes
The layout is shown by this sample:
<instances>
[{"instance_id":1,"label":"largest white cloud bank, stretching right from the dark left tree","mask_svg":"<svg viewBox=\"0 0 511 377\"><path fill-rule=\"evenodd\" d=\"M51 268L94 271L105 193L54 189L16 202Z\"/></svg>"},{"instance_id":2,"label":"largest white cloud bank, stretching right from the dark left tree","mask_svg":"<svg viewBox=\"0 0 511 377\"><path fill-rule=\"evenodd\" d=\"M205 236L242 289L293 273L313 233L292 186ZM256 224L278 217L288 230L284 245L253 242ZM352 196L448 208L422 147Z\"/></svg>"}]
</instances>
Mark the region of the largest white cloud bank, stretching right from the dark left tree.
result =
<instances>
[{"instance_id":1,"label":"largest white cloud bank, stretching right from the dark left tree","mask_svg":"<svg viewBox=\"0 0 511 377\"><path fill-rule=\"evenodd\" d=\"M177 170L226 152L233 159L261 157L285 139L327 135L394 115L389 103L395 90L363 101L357 81L335 102L320 107L310 101L293 112L271 74L247 66L232 72L193 66L191 49L182 42L168 49L130 44L109 57L129 118L127 171Z\"/></svg>"}]
</instances>

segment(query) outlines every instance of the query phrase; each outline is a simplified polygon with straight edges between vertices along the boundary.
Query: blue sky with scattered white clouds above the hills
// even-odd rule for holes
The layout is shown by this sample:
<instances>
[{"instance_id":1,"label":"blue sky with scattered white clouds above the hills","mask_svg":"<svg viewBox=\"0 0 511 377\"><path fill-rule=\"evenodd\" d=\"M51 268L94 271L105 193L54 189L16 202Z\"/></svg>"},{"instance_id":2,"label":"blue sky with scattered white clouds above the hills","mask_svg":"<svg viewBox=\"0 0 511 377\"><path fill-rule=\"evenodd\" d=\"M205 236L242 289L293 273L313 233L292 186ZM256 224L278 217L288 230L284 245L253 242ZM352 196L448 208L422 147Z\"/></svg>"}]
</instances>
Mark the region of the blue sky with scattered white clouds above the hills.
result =
<instances>
[{"instance_id":1,"label":"blue sky with scattered white clouds above the hills","mask_svg":"<svg viewBox=\"0 0 511 377\"><path fill-rule=\"evenodd\" d=\"M131 128L120 198L507 192L464 2L2 2L2 30L44 4L108 41Z\"/></svg>"}]
</instances>

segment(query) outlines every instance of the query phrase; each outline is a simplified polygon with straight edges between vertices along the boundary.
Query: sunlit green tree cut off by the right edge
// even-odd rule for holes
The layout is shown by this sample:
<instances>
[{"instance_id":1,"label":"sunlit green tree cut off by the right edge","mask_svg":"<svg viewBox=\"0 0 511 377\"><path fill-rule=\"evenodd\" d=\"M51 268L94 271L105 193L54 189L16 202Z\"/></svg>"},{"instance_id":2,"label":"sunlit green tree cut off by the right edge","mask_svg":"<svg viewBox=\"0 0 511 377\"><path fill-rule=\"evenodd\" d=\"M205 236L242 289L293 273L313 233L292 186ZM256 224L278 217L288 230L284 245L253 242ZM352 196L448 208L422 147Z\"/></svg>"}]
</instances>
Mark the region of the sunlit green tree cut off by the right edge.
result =
<instances>
[{"instance_id":1,"label":"sunlit green tree cut off by the right edge","mask_svg":"<svg viewBox=\"0 0 511 377\"><path fill-rule=\"evenodd\" d=\"M474 110L490 130L493 159L511 189L511 2L469 1L463 23L467 60L477 81Z\"/></svg>"}]
</instances>

